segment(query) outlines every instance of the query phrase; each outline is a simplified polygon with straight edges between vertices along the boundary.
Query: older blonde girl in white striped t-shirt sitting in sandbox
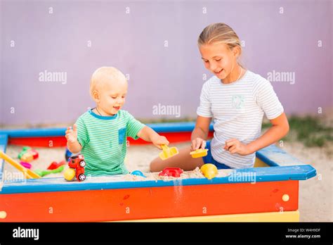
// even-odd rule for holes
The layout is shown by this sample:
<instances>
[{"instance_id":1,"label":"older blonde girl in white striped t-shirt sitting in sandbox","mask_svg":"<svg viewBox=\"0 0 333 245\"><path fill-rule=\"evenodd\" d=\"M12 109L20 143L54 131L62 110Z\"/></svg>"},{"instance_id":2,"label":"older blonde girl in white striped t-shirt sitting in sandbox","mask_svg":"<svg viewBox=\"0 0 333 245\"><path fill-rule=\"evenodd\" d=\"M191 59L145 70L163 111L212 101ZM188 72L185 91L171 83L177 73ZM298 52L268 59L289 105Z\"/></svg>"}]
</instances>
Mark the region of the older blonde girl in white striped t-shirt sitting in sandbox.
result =
<instances>
[{"instance_id":1,"label":"older blonde girl in white striped t-shirt sitting in sandbox","mask_svg":"<svg viewBox=\"0 0 333 245\"><path fill-rule=\"evenodd\" d=\"M192 144L173 158L156 158L150 163L152 172L167 167L193 170L204 163L213 163L218 169L252 168L256 151L289 132L284 109L270 82L240 65L242 46L231 27L208 25L197 43L205 68L214 76L202 86ZM264 114L272 125L261 135ZM207 142L211 120L214 137ZM190 151L200 148L208 149L208 155L192 158Z\"/></svg>"}]
</instances>

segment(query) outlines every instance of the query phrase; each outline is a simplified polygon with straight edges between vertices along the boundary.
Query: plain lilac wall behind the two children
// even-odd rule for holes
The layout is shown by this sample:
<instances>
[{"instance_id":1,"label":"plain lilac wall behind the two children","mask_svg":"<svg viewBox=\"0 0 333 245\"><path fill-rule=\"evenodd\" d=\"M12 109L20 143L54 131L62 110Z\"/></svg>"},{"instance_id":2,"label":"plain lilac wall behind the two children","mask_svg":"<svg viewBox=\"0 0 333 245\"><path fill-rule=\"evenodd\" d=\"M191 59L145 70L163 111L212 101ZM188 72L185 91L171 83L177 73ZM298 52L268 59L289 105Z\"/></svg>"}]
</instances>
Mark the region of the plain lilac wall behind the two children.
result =
<instances>
[{"instance_id":1,"label":"plain lilac wall behind the two children","mask_svg":"<svg viewBox=\"0 0 333 245\"><path fill-rule=\"evenodd\" d=\"M104 65L129 74L124 108L137 118L175 117L153 115L159 103L195 117L211 77L197 37L216 22L244 40L249 70L295 73L294 84L272 81L288 114L332 106L332 1L1 1L0 122L76 120L93 107L89 80ZM67 83L40 82L44 70Z\"/></svg>"}]
</instances>

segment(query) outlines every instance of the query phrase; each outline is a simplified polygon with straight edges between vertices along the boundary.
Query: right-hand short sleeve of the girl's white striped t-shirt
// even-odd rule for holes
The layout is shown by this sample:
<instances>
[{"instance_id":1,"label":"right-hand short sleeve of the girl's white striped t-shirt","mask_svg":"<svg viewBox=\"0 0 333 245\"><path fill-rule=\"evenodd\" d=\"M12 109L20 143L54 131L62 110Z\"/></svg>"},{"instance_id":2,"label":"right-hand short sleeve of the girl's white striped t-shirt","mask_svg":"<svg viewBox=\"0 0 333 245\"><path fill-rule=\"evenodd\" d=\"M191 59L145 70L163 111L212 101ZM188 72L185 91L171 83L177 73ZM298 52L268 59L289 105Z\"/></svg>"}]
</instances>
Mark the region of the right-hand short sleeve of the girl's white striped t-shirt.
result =
<instances>
[{"instance_id":1,"label":"right-hand short sleeve of the girl's white striped t-shirt","mask_svg":"<svg viewBox=\"0 0 333 245\"><path fill-rule=\"evenodd\" d=\"M260 80L254 87L256 101L266 114L268 120L278 118L284 111L278 96L275 94L272 84L266 79Z\"/></svg>"}]
</instances>

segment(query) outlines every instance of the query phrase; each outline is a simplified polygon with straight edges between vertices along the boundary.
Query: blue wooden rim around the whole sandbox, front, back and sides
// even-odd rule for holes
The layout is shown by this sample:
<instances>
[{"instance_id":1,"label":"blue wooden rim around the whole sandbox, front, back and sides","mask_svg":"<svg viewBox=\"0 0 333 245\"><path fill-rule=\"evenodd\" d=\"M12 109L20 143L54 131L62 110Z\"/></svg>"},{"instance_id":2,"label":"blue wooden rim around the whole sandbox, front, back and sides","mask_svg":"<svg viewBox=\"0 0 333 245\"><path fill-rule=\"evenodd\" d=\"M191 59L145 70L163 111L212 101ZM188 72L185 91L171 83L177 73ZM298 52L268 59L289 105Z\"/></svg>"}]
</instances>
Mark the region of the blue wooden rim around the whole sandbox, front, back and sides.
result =
<instances>
[{"instance_id":1,"label":"blue wooden rim around the whole sandbox, front, back and sides","mask_svg":"<svg viewBox=\"0 0 333 245\"><path fill-rule=\"evenodd\" d=\"M191 132L195 122L175 122L149 125L157 132ZM210 125L213 130L213 125ZM1 134L2 132L2 134ZM6 134L4 134L6 132ZM8 135L7 135L8 133ZM29 130L0 130L0 147L6 151L8 137L50 137L63 136L65 128L29 129ZM233 172L229 177L216 177L213 180L187 179L174 181L138 181L131 182L124 179L124 175L107 177L92 177L85 182L66 182L63 178L42 178L39 180L22 180L5 182L0 194L25 193L41 191L74 191L88 189L124 189L139 187L166 187L174 185L195 184L225 184L236 182L266 182L282 180L307 180L316 175L311 165L303 165L301 161L275 145L268 146L256 152L256 157L270 165L270 168L247 168ZM0 162L0 172L3 171L4 163ZM252 177L255 176L253 180ZM1 180L1 179L0 179Z\"/></svg>"}]
</instances>

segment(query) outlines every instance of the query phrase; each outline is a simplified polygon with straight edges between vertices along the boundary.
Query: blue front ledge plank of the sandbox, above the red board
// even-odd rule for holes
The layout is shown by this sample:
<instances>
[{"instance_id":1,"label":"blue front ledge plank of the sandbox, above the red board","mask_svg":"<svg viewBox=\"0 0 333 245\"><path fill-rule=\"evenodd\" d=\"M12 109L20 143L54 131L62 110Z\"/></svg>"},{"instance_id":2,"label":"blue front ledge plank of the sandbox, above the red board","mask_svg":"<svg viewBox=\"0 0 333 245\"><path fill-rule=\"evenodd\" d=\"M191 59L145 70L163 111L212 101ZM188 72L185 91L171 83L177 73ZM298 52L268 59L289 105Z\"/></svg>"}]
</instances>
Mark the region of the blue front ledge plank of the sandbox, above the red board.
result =
<instances>
[{"instance_id":1,"label":"blue front ledge plank of the sandbox, above the red board","mask_svg":"<svg viewBox=\"0 0 333 245\"><path fill-rule=\"evenodd\" d=\"M124 175L91 177L91 179L87 179L84 182L67 182L63 178L42 178L16 182L5 182L0 191L0 194L307 180L311 177L314 177L315 175L316 171L311 165L296 165L271 168L238 169L232 171L231 175L228 175L227 177L216 177L212 180L207 180L206 178L192 178L169 181L126 181L124 179ZM253 180L250 176L255 176L255 179Z\"/></svg>"}]
</instances>

